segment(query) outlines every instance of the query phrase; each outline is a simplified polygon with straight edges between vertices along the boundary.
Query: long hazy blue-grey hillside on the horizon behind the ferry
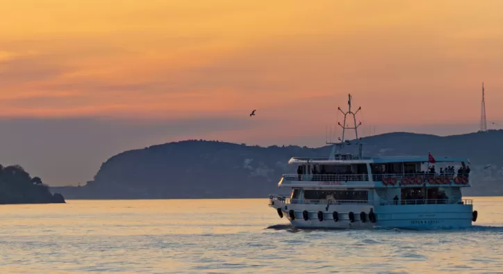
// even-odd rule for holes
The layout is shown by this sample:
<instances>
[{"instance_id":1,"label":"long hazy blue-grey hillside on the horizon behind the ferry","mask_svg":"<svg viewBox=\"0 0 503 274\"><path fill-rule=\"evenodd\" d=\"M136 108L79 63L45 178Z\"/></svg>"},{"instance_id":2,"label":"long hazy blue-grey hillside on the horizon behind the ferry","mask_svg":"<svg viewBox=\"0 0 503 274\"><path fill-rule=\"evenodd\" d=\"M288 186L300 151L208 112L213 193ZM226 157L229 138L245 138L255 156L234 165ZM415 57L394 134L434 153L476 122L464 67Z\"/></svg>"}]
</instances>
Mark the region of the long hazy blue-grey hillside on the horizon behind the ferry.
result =
<instances>
[{"instance_id":1,"label":"long hazy blue-grey hillside on the horizon behind the ferry","mask_svg":"<svg viewBox=\"0 0 503 274\"><path fill-rule=\"evenodd\" d=\"M446 137L398 132L363 138L363 153L468 157L477 183L465 195L503 195L502 140L503 130ZM57 190L70 199L265 198L278 193L283 173L295 172L290 157L328 156L330 150L186 140L117 154L86 186Z\"/></svg>"}]
</instances>

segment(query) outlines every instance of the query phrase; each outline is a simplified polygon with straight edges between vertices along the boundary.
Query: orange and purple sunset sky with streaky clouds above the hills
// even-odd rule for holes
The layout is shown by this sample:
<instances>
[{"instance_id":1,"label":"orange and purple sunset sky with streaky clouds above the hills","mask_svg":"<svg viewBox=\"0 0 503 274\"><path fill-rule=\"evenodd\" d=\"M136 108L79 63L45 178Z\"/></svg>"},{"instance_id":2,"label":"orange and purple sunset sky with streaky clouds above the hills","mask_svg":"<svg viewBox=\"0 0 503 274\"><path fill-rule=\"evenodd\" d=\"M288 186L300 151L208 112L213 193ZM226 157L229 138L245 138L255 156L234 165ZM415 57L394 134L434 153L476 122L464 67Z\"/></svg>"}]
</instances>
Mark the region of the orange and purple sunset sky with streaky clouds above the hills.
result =
<instances>
[{"instance_id":1,"label":"orange and purple sunset sky with streaky clouds above the hills","mask_svg":"<svg viewBox=\"0 0 503 274\"><path fill-rule=\"evenodd\" d=\"M49 184L186 138L320 146L348 92L363 135L477 131L482 81L503 124L503 1L0 6L0 160Z\"/></svg>"}]
</instances>

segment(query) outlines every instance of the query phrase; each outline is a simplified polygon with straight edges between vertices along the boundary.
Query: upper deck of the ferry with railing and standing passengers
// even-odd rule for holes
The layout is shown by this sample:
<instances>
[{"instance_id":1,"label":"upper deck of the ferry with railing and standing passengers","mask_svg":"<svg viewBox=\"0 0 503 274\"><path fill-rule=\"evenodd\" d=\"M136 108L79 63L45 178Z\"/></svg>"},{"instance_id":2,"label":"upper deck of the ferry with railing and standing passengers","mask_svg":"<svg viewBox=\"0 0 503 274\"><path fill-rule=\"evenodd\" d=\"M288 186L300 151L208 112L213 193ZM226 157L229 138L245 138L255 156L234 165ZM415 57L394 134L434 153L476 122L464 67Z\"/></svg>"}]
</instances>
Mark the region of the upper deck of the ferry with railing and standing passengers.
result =
<instances>
[{"instance_id":1,"label":"upper deck of the ferry with railing and standing passengers","mask_svg":"<svg viewBox=\"0 0 503 274\"><path fill-rule=\"evenodd\" d=\"M297 174L285 174L279 186L318 188L415 188L418 186L468 187L466 158L443 157L430 163L424 156L327 158L293 157ZM428 163L426 165L425 163ZM454 168L451 163L457 164ZM436 170L436 165L440 170ZM447 166L449 165L449 166Z\"/></svg>"}]
</instances>

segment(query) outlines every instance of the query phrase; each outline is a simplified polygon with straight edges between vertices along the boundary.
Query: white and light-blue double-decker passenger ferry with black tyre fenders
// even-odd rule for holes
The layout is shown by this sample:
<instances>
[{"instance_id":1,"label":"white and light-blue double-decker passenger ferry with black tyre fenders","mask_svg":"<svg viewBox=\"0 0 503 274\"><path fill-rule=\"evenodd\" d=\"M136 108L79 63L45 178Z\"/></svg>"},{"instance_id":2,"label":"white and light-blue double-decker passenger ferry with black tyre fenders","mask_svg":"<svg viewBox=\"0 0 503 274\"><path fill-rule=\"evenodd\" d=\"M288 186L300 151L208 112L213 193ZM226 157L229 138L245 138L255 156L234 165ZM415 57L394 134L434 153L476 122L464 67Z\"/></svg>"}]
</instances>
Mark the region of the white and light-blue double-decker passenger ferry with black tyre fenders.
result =
<instances>
[{"instance_id":1,"label":"white and light-blue double-decker passenger ferry with black tyre fenders","mask_svg":"<svg viewBox=\"0 0 503 274\"><path fill-rule=\"evenodd\" d=\"M477 220L472 200L461 190L471 186L470 161L426 156L363 156L352 96L344 114L342 139L329 157L293 157L297 174L281 177L279 188L290 195L270 195L269 206L294 227L324 229L405 229L470 227ZM347 118L354 126L347 127ZM354 129L356 138L345 140ZM342 153L348 147L357 153ZM441 172L440 172L441 168ZM444 171L445 170L445 171Z\"/></svg>"}]
</instances>

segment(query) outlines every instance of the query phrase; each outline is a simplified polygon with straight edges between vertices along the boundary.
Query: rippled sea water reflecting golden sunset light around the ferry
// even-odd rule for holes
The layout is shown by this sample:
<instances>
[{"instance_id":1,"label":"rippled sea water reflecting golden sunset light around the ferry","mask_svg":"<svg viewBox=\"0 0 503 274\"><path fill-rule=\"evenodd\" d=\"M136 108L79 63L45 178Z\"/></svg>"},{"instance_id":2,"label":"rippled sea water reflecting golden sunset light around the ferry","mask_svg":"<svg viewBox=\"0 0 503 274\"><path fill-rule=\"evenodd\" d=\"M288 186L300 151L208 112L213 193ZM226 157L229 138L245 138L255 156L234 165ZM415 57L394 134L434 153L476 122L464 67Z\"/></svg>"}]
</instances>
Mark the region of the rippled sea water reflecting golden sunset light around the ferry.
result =
<instances>
[{"instance_id":1,"label":"rippled sea water reflecting golden sunset light around the ferry","mask_svg":"<svg viewBox=\"0 0 503 274\"><path fill-rule=\"evenodd\" d=\"M463 230L295 230L267 200L0 206L0 273L503 273L503 198Z\"/></svg>"}]
</instances>

